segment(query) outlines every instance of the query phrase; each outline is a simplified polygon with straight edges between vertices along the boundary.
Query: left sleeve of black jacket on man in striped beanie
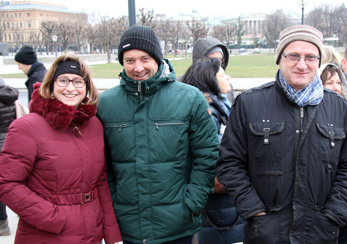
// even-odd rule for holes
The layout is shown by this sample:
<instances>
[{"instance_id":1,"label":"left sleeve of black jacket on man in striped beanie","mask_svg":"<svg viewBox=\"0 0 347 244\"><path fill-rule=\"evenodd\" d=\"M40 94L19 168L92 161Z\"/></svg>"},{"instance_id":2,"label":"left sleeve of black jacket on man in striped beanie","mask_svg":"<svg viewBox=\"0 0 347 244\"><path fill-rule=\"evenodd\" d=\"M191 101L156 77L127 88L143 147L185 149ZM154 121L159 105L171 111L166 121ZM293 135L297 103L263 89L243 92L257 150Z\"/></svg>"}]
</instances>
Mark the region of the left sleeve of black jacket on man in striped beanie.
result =
<instances>
[{"instance_id":1,"label":"left sleeve of black jacket on man in striped beanie","mask_svg":"<svg viewBox=\"0 0 347 244\"><path fill-rule=\"evenodd\" d=\"M265 206L248 177L248 146L244 124L246 112L240 94L231 107L227 128L224 132L219 159L216 163L217 179L234 199L241 217L249 217L265 211Z\"/></svg>"}]
</instances>

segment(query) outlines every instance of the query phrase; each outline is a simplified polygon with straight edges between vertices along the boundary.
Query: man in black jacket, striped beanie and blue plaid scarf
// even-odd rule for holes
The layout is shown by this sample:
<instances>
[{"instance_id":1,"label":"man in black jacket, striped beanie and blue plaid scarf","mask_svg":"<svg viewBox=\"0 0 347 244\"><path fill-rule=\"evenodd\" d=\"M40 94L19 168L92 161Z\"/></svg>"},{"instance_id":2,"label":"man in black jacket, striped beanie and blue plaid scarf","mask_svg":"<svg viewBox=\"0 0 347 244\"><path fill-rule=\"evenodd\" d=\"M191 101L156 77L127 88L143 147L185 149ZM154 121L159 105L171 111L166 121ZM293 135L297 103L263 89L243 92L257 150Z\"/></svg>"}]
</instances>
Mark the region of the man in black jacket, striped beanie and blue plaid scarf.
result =
<instances>
[{"instance_id":1,"label":"man in black jacket, striped beanie and blue plaid scarf","mask_svg":"<svg viewBox=\"0 0 347 244\"><path fill-rule=\"evenodd\" d=\"M317 75L322 39L311 26L283 30L276 81L231 108L216 172L246 221L244 244L336 243L347 222L347 102Z\"/></svg>"}]
</instances>

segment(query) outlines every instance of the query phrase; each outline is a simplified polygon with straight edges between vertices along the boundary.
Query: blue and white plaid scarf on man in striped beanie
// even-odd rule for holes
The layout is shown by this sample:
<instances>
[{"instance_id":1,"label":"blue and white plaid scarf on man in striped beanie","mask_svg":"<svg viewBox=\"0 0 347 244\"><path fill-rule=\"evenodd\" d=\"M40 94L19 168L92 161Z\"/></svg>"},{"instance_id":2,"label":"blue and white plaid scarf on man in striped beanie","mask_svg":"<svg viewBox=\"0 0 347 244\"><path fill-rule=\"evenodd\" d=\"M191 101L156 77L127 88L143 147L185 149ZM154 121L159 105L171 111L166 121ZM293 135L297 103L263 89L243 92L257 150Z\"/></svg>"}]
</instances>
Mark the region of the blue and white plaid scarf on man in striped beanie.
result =
<instances>
[{"instance_id":1,"label":"blue and white plaid scarf on man in striped beanie","mask_svg":"<svg viewBox=\"0 0 347 244\"><path fill-rule=\"evenodd\" d=\"M300 91L296 91L291 85L289 85L279 72L279 80L282 87L288 92L288 97L295 102L300 108L307 105L319 104L323 98L323 84L321 78L318 75L313 81Z\"/></svg>"}]
</instances>

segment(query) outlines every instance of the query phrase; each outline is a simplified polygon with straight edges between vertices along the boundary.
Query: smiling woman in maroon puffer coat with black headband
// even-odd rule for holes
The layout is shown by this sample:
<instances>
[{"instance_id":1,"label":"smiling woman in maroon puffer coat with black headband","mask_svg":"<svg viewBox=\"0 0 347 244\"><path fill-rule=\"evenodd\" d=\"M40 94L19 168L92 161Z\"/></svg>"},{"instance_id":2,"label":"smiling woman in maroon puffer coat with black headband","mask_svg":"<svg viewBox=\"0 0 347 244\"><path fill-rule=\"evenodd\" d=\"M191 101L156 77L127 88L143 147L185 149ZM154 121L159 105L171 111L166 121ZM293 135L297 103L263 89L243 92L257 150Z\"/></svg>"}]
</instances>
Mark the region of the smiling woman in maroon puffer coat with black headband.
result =
<instances>
[{"instance_id":1,"label":"smiling woman in maroon puffer coat with black headband","mask_svg":"<svg viewBox=\"0 0 347 244\"><path fill-rule=\"evenodd\" d=\"M0 201L20 217L15 244L121 241L97 101L90 68L62 55L34 85L30 114L11 124L0 154Z\"/></svg>"}]
</instances>

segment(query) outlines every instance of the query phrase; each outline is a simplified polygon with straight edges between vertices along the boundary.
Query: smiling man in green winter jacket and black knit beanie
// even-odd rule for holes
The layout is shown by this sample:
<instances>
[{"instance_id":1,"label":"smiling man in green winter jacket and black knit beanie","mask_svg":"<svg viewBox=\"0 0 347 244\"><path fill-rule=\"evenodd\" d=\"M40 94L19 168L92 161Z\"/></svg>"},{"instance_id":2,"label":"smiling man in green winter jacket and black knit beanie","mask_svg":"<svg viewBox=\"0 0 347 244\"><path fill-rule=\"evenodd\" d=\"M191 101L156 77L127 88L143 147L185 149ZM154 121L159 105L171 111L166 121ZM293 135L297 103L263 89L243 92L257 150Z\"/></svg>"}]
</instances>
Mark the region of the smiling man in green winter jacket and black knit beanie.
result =
<instances>
[{"instance_id":1,"label":"smiling man in green winter jacket and black knit beanie","mask_svg":"<svg viewBox=\"0 0 347 244\"><path fill-rule=\"evenodd\" d=\"M124 244L191 244L214 186L217 129L203 94L176 81L153 29L121 36L120 85L100 96L107 171Z\"/></svg>"}]
</instances>

